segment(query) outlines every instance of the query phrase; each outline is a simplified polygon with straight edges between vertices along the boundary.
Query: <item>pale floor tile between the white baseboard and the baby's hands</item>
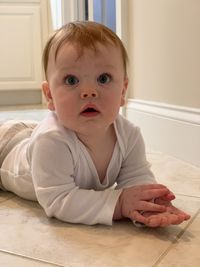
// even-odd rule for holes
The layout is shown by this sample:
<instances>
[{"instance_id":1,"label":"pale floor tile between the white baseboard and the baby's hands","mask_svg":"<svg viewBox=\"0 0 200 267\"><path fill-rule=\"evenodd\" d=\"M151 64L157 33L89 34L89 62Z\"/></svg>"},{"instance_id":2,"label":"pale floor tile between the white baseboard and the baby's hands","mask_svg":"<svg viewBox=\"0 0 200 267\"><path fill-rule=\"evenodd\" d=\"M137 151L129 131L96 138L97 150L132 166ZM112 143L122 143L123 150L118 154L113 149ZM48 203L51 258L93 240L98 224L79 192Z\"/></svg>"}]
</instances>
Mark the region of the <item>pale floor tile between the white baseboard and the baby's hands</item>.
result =
<instances>
[{"instance_id":1,"label":"pale floor tile between the white baseboard and the baby's hands","mask_svg":"<svg viewBox=\"0 0 200 267\"><path fill-rule=\"evenodd\" d=\"M149 153L147 157L159 183L176 194L200 198L200 168L159 153Z\"/></svg>"}]
</instances>

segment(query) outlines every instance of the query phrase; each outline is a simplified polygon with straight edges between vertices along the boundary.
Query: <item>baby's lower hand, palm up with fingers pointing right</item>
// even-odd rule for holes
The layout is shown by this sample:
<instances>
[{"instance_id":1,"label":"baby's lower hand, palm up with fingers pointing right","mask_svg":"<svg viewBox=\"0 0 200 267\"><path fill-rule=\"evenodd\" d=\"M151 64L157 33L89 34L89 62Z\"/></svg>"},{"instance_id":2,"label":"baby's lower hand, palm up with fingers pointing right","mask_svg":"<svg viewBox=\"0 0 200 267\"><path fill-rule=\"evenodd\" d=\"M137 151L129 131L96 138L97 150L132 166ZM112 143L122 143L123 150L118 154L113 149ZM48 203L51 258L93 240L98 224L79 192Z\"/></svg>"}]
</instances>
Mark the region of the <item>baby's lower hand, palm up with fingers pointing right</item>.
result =
<instances>
[{"instance_id":1,"label":"baby's lower hand, palm up with fingers pointing right","mask_svg":"<svg viewBox=\"0 0 200 267\"><path fill-rule=\"evenodd\" d=\"M171 224L180 224L189 220L190 215L174 207L170 201L158 198L155 203L165 205L165 212L143 212L142 215L148 219L146 223L149 227L165 227Z\"/></svg>"}]
</instances>

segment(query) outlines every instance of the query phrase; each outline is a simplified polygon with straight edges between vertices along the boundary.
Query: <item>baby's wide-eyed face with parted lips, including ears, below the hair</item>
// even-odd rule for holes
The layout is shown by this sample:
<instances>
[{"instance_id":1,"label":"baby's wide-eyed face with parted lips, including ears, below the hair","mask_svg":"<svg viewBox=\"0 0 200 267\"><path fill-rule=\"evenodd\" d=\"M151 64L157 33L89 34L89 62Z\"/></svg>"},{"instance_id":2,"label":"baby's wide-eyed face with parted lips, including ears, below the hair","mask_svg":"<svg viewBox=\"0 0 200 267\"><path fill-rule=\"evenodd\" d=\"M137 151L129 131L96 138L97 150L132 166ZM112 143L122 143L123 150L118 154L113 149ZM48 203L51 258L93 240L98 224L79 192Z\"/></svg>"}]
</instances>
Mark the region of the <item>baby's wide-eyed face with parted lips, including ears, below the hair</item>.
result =
<instances>
[{"instance_id":1,"label":"baby's wide-eyed face with parted lips, including ears, below the hair","mask_svg":"<svg viewBox=\"0 0 200 267\"><path fill-rule=\"evenodd\" d=\"M124 104L127 79L120 49L97 46L98 52L66 43L52 54L48 64L48 82L43 91L48 107L55 110L61 124L77 134L108 128Z\"/></svg>"}]
</instances>

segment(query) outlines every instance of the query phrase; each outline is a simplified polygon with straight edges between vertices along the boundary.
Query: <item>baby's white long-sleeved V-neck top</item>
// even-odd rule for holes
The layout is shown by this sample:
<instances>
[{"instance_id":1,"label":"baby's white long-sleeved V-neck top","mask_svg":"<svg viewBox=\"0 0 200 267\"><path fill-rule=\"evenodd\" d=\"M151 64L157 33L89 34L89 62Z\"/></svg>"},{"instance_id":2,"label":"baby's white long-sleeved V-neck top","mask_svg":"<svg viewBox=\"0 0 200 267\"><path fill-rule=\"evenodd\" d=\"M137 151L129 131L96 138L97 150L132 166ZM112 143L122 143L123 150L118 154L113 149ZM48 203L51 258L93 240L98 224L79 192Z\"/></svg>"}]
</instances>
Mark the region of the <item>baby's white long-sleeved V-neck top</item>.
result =
<instances>
[{"instance_id":1,"label":"baby's white long-sleeved V-neck top","mask_svg":"<svg viewBox=\"0 0 200 267\"><path fill-rule=\"evenodd\" d=\"M122 188L155 183L140 130L120 115L114 127L117 142L101 183L83 143L50 113L5 158L4 188L37 200L49 217L111 225Z\"/></svg>"}]
</instances>

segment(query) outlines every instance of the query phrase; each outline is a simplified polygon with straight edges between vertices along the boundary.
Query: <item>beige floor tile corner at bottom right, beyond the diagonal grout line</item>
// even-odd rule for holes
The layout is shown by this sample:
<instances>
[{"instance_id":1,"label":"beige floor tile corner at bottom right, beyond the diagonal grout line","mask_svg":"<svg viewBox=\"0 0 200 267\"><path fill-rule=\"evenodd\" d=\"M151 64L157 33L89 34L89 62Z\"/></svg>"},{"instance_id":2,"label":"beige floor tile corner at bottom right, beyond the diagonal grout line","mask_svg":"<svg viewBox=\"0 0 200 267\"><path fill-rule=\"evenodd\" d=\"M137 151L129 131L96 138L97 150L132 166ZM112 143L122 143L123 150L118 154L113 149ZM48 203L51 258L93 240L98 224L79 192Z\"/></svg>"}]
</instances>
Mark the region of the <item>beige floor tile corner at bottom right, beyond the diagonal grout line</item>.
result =
<instances>
[{"instance_id":1,"label":"beige floor tile corner at bottom right, beyond the diagonal grout line","mask_svg":"<svg viewBox=\"0 0 200 267\"><path fill-rule=\"evenodd\" d=\"M167 255L163 255L157 267L199 267L200 266L200 212L176 242Z\"/></svg>"}]
</instances>

